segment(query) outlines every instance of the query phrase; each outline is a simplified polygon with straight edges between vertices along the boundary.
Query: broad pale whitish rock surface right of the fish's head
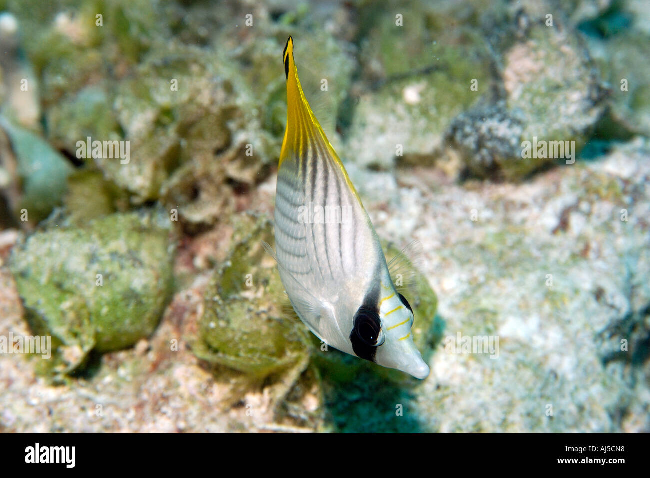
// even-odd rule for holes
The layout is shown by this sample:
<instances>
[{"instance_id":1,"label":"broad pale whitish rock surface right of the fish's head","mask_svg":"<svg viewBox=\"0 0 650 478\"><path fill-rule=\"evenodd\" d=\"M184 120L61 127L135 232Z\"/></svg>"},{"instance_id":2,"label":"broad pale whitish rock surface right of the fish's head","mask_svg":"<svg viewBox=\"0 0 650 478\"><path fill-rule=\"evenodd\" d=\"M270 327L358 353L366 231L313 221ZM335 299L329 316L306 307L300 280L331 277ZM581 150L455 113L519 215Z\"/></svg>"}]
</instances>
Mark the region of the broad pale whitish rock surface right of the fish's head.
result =
<instances>
[{"instance_id":1,"label":"broad pale whitish rock surface right of the fish's head","mask_svg":"<svg viewBox=\"0 0 650 478\"><path fill-rule=\"evenodd\" d=\"M382 410L402 403L430 432L647 431L649 152L639 139L523 185L425 194L394 239L428 251L443 340L412 400ZM463 352L458 334L499 351Z\"/></svg>"}]
</instances>

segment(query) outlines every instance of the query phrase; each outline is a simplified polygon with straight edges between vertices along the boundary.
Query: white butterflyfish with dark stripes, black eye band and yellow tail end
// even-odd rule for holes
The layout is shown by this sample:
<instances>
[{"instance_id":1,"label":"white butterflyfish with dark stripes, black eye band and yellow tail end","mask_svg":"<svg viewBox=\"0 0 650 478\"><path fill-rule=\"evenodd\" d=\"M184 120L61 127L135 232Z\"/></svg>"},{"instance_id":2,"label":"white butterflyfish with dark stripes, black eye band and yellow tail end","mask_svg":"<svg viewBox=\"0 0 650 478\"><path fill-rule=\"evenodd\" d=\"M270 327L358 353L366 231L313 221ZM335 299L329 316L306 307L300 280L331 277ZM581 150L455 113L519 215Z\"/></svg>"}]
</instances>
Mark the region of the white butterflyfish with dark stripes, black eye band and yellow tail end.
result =
<instances>
[{"instance_id":1,"label":"white butterflyfish with dark stripes, black eye band and yellow tail end","mask_svg":"<svg viewBox=\"0 0 650 478\"><path fill-rule=\"evenodd\" d=\"M276 190L278 270L298 317L339 351L426 378L413 309L398 293L361 198L298 79L291 36L283 53L287 129Z\"/></svg>"}]
</instances>

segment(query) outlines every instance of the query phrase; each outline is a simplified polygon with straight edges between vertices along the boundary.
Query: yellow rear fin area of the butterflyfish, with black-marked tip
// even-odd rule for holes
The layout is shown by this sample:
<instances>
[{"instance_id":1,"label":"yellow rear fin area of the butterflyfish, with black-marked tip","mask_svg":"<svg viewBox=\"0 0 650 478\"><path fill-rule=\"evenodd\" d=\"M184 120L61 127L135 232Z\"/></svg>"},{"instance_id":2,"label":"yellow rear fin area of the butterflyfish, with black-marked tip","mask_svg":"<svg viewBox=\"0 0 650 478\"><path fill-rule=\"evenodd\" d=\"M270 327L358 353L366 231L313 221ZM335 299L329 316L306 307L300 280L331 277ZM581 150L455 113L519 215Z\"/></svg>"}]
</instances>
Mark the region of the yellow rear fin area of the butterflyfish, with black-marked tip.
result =
<instances>
[{"instance_id":1,"label":"yellow rear fin area of the butterflyfish, with black-marked tip","mask_svg":"<svg viewBox=\"0 0 650 478\"><path fill-rule=\"evenodd\" d=\"M282 142L282 150L280 152L279 166L290 155L301 155L302 141L316 140L322 141L326 149L330 153L331 159L341 169L346 183L352 190L352 193L357 197L359 202L359 194L357 193L352 181L348 177L339 155L335 152L330 140L327 139L325 131L323 131L320 123L316 119L315 114L309 106L305 93L300 85L298 78L298 68L293 58L293 38L289 36L287 46L285 46L283 53L283 61L285 66L285 74L287 75L287 129L285 130L285 137Z\"/></svg>"}]
</instances>

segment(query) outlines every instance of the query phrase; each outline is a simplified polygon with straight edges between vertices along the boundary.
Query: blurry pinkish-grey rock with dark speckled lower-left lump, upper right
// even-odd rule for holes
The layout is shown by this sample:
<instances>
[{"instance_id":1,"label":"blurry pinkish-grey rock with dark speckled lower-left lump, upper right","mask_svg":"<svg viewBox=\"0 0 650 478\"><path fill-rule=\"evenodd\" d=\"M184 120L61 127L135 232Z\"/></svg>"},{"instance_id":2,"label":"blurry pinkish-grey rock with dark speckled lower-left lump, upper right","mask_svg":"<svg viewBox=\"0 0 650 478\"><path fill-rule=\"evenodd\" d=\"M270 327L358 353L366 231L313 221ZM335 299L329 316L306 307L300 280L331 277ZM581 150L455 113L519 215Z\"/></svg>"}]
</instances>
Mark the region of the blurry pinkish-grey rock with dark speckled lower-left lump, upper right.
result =
<instances>
[{"instance_id":1,"label":"blurry pinkish-grey rock with dark speckled lower-left lump, upper right","mask_svg":"<svg viewBox=\"0 0 650 478\"><path fill-rule=\"evenodd\" d=\"M571 27L526 18L525 35L517 32L518 40L503 46L502 91L460 114L446 134L480 178L516 181L545 165L573 164L604 113L604 87ZM562 148L525 155L525 142L537 140Z\"/></svg>"}]
</instances>

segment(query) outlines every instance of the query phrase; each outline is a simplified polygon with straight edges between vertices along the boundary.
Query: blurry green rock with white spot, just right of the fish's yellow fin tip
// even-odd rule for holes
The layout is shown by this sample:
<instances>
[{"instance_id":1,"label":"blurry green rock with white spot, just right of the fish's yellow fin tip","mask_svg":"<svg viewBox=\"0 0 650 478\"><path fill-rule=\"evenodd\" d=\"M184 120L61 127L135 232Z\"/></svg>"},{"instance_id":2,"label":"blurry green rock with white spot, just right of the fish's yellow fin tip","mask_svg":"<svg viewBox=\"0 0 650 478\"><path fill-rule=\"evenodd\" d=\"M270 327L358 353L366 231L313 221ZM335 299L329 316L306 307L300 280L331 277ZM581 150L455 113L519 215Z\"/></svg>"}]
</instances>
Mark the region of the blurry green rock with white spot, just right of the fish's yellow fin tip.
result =
<instances>
[{"instance_id":1,"label":"blurry green rock with white spot, just right of the fish's yellow fin tip","mask_svg":"<svg viewBox=\"0 0 650 478\"><path fill-rule=\"evenodd\" d=\"M489 90L486 42L465 26L450 28L441 17L452 15L432 6L367 15L376 26L361 51L365 92L350 101L354 114L339 153L380 170L409 157L430 164L452 119Z\"/></svg>"}]
</instances>

